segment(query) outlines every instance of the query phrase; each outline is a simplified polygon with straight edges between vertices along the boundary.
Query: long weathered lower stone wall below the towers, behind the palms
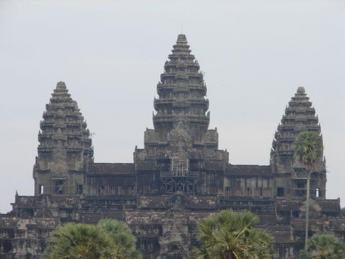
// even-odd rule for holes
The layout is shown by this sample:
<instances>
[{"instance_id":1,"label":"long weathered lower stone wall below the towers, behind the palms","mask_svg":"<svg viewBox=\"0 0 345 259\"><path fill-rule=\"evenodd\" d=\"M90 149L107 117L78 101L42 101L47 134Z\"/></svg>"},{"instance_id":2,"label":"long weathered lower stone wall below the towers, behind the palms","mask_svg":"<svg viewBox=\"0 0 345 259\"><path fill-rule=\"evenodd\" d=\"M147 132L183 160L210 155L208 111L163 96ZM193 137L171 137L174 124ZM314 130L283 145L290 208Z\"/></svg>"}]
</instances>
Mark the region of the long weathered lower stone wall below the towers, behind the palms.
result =
<instances>
[{"instance_id":1,"label":"long weathered lower stone wall below the towers, behind the palms","mask_svg":"<svg viewBox=\"0 0 345 259\"><path fill-rule=\"evenodd\" d=\"M1 258L41 258L52 230L66 222L126 221L144 258L189 258L197 245L197 223L221 209L250 210L259 229L275 237L279 258L299 258L304 246L304 200L233 198L224 195L16 196L13 211L0 216ZM339 200L311 202L310 234L335 233L345 241Z\"/></svg>"}]
</instances>

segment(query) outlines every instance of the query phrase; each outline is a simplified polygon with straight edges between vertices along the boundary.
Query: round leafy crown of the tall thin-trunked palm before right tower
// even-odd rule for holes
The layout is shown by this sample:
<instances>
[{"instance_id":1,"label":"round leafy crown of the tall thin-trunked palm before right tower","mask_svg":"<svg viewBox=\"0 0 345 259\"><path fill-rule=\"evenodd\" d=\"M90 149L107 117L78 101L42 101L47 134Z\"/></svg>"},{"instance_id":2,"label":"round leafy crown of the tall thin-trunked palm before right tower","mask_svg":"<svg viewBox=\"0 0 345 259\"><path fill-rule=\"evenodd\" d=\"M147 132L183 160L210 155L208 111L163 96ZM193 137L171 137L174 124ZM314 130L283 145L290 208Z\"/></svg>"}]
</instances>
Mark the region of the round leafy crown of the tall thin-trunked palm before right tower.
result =
<instances>
[{"instance_id":1,"label":"round leafy crown of the tall thin-trunked palm before right tower","mask_svg":"<svg viewBox=\"0 0 345 259\"><path fill-rule=\"evenodd\" d=\"M308 170L311 170L313 164L322 159L324 148L322 146L322 137L319 133L302 131L297 135L293 148L299 162L307 166Z\"/></svg>"}]
</instances>

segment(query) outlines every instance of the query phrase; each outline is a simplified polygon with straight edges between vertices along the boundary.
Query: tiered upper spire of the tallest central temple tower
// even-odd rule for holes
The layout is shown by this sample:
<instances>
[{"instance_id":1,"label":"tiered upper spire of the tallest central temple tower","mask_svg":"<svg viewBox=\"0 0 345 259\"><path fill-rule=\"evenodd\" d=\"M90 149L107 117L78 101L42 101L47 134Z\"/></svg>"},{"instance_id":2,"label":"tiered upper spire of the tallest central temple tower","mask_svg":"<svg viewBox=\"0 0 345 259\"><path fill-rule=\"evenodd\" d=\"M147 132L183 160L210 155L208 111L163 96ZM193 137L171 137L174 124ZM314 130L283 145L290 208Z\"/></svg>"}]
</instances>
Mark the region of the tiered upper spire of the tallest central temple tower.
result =
<instances>
[{"instance_id":1,"label":"tiered upper spire of the tallest central temple tower","mask_svg":"<svg viewBox=\"0 0 345 259\"><path fill-rule=\"evenodd\" d=\"M173 46L170 59L164 65L164 73L157 85L158 99L154 105L157 115L153 116L155 131L166 135L181 118L186 121L190 133L201 140L210 122L208 99L205 99L206 85L198 62L187 44L186 35L179 35Z\"/></svg>"}]
</instances>

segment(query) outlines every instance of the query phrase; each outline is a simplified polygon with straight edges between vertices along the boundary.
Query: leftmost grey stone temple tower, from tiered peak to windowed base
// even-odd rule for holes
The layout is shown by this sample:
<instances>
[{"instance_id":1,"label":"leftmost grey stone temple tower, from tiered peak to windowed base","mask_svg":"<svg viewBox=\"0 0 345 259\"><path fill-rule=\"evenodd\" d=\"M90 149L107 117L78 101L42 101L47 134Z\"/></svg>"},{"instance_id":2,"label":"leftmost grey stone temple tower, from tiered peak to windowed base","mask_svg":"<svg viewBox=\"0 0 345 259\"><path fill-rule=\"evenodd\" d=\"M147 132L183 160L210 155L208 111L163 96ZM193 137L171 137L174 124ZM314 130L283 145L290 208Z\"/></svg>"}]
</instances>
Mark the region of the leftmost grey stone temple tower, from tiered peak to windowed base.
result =
<instances>
[{"instance_id":1,"label":"leftmost grey stone temple tower, from tiered peak to windowed base","mask_svg":"<svg viewBox=\"0 0 345 259\"><path fill-rule=\"evenodd\" d=\"M77 102L60 81L40 124L34 164L34 195L83 193L84 173L93 159L90 132Z\"/></svg>"}]
</instances>

